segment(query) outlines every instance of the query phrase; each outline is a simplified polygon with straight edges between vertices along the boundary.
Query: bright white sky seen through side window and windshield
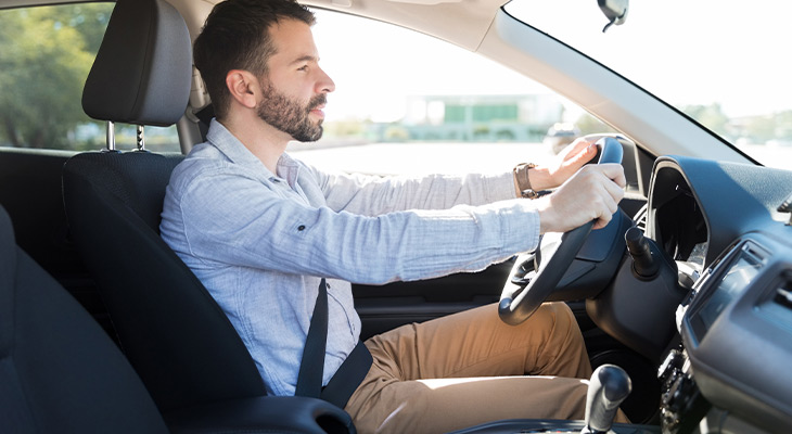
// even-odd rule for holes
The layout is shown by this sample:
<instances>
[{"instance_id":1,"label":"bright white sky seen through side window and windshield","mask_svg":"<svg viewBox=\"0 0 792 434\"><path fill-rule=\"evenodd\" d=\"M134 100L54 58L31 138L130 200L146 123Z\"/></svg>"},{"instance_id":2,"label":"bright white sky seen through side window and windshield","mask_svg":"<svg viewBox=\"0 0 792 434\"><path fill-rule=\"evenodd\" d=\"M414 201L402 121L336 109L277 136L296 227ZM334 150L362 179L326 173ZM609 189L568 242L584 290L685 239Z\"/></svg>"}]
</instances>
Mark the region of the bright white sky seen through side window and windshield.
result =
<instances>
[{"instance_id":1,"label":"bright white sky seen through side window and windshield","mask_svg":"<svg viewBox=\"0 0 792 434\"><path fill-rule=\"evenodd\" d=\"M605 34L596 0L515 0L508 8L536 16L528 21L672 103L718 102L730 116L792 110L785 47L792 2L634 0L626 23ZM396 120L409 94L548 92L474 53L398 27L320 13L314 34L336 84L328 120Z\"/></svg>"}]
</instances>

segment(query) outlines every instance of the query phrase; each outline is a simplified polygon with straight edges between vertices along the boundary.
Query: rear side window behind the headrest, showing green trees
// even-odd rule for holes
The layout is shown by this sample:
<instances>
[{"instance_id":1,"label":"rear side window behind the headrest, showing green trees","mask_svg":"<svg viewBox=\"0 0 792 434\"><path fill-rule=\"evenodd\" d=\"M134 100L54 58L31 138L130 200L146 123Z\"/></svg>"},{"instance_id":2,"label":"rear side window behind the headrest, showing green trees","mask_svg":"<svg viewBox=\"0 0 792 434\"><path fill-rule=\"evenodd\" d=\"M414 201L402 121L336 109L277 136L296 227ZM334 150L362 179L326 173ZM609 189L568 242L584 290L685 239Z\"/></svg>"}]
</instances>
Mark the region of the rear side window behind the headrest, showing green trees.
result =
<instances>
[{"instance_id":1,"label":"rear side window behind the headrest, showing green trees","mask_svg":"<svg viewBox=\"0 0 792 434\"><path fill-rule=\"evenodd\" d=\"M104 146L104 123L80 101L112 11L113 3L0 11L0 146ZM116 126L119 149L132 149L136 136L133 126ZM145 138L149 149L179 151L175 127L146 127Z\"/></svg>"}]
</instances>

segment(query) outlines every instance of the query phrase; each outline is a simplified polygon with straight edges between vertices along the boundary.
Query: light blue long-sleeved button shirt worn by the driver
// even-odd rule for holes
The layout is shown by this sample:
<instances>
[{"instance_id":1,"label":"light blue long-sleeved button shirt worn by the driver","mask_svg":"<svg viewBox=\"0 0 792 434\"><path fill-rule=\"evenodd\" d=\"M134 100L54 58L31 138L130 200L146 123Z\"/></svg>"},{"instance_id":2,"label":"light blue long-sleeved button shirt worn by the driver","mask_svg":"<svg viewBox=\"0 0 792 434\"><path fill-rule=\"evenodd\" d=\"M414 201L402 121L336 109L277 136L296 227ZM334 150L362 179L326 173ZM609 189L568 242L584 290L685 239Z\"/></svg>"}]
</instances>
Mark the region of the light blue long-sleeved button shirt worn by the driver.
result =
<instances>
[{"instance_id":1,"label":"light blue long-sleeved button shirt worn by the driver","mask_svg":"<svg viewBox=\"0 0 792 434\"><path fill-rule=\"evenodd\" d=\"M533 250L538 213L513 197L511 173L331 175L284 154L272 174L213 120L174 170L161 230L237 329L267 393L294 395L321 277L327 384L360 335L349 282L476 271Z\"/></svg>"}]
</instances>

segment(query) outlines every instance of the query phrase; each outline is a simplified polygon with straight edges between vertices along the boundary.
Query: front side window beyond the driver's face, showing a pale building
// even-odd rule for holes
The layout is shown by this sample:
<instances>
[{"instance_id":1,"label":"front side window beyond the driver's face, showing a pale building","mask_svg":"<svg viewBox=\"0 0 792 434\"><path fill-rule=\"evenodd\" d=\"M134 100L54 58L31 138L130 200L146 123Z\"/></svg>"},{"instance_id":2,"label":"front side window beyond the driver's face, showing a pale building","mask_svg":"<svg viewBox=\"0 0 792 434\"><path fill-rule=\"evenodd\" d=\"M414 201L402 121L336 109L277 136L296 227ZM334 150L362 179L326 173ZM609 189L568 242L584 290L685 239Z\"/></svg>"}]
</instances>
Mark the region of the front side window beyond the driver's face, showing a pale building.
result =
<instances>
[{"instance_id":1,"label":"front side window beyond the driver's face, showing a pale building","mask_svg":"<svg viewBox=\"0 0 792 434\"><path fill-rule=\"evenodd\" d=\"M381 175L503 171L609 131L477 54L388 24L315 12L320 64L335 91L322 139L290 149L309 164Z\"/></svg>"}]
</instances>

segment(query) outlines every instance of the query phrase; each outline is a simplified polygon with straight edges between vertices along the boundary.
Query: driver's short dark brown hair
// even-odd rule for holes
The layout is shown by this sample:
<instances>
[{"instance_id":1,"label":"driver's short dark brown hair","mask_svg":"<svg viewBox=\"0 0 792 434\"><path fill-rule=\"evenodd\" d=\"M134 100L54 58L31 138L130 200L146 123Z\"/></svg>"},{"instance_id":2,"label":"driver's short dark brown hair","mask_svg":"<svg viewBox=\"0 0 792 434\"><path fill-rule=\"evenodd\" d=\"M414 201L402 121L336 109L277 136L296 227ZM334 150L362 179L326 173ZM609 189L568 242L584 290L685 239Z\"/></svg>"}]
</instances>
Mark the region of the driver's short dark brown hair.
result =
<instances>
[{"instance_id":1,"label":"driver's short dark brown hair","mask_svg":"<svg viewBox=\"0 0 792 434\"><path fill-rule=\"evenodd\" d=\"M309 26L314 13L294 0L226 0L217 3L195 39L193 61L212 97L215 115L228 114L231 93L226 75L244 69L261 77L274 53L269 28L280 20L298 20Z\"/></svg>"}]
</instances>

